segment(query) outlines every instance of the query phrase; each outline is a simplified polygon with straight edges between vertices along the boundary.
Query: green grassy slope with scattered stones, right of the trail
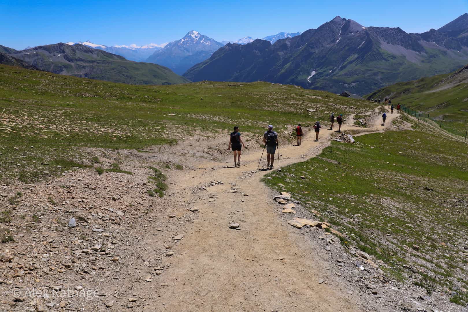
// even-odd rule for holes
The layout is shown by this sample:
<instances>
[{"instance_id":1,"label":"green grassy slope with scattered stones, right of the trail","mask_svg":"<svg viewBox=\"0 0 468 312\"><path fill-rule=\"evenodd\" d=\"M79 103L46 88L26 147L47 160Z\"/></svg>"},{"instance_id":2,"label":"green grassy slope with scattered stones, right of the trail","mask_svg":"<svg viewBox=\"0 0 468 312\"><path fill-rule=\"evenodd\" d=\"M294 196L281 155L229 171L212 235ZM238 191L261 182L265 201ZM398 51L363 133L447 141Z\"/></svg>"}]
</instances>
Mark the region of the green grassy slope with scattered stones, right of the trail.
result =
<instances>
[{"instance_id":1,"label":"green grassy slope with scattered stones, right of the trail","mask_svg":"<svg viewBox=\"0 0 468 312\"><path fill-rule=\"evenodd\" d=\"M284 184L347 234L345 246L373 254L396 278L449 297L455 286L468 288L468 145L424 131L356 141L332 142L318 157L283 167L265 182ZM468 303L468 294L461 296Z\"/></svg>"}]
</instances>

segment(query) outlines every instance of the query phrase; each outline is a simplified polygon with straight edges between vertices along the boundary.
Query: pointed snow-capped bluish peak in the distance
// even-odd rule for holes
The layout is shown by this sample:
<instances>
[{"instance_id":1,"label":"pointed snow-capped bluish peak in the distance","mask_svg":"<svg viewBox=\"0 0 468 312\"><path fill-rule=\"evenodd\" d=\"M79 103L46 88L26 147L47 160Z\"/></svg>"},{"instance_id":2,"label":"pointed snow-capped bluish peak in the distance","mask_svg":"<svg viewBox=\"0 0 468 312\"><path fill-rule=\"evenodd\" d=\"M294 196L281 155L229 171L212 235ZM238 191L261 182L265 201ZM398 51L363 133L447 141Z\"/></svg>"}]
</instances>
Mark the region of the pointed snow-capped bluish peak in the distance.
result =
<instances>
[{"instance_id":1,"label":"pointed snow-capped bluish peak in the distance","mask_svg":"<svg viewBox=\"0 0 468 312\"><path fill-rule=\"evenodd\" d=\"M156 51L146 62L167 66L182 75L193 65L209 58L214 51L224 46L216 40L191 30L182 39L167 44Z\"/></svg>"}]
</instances>

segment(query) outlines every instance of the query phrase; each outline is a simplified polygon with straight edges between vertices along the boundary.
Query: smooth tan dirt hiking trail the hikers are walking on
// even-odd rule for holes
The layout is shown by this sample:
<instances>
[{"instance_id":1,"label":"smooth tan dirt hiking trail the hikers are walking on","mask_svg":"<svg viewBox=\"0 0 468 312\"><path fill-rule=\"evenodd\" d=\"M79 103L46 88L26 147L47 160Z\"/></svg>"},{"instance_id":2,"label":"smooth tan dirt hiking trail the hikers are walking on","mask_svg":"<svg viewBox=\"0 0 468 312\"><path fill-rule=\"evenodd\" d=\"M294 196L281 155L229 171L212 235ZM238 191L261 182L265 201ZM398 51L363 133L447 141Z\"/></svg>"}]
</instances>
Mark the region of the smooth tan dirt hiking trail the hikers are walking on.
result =
<instances>
[{"instance_id":1,"label":"smooth tan dirt hiking trail the hikers are walking on","mask_svg":"<svg viewBox=\"0 0 468 312\"><path fill-rule=\"evenodd\" d=\"M396 116L388 114L387 126ZM381 118L373 129L343 124L342 131L383 131L385 127L380 123ZM335 130L322 128L319 141L313 142L313 132L306 134L300 146L285 146L279 138L281 166L319 154L335 135ZM252 173L261 151L243 152L241 168L201 162L197 169L183 172L171 186L170 192L182 200L171 207L171 213L182 217L187 213L184 202L190 200L190 205L199 209L198 218L183 234L181 243L172 248L175 256L165 258L170 264L161 275L166 290L145 310L294 311L307 307L317 311L361 311L357 294L327 282L334 275L329 264L315 259L317 251L278 219L272 201L277 194L260 181L269 171ZM261 167L266 165L265 156ZM231 153L229 160L232 162ZM273 170L276 168L278 158ZM210 187L194 200L192 188L210 181L224 184ZM237 192L231 192L232 188ZM241 230L230 229L231 222L239 223ZM148 239L145 244L150 257L151 250L161 242Z\"/></svg>"}]
</instances>

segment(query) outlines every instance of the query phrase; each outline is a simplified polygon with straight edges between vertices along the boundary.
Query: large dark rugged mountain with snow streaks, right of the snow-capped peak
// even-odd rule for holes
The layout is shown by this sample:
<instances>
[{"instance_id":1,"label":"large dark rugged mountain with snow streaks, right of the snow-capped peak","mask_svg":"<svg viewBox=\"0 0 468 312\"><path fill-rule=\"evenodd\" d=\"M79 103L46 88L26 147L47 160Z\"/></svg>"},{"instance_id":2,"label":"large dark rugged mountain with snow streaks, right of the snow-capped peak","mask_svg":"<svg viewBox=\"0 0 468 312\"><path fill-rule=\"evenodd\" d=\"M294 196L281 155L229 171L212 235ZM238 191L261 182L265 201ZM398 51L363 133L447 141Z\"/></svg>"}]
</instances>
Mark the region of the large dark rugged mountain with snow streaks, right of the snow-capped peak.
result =
<instances>
[{"instance_id":1,"label":"large dark rugged mountain with snow streaks, right of the snow-capped peak","mask_svg":"<svg viewBox=\"0 0 468 312\"><path fill-rule=\"evenodd\" d=\"M468 48L467 39L433 29L408 34L400 28L366 28L337 16L272 45L260 39L227 44L184 76L193 81L265 80L366 94L397 81L459 68L468 61L468 49L463 49Z\"/></svg>"}]
</instances>

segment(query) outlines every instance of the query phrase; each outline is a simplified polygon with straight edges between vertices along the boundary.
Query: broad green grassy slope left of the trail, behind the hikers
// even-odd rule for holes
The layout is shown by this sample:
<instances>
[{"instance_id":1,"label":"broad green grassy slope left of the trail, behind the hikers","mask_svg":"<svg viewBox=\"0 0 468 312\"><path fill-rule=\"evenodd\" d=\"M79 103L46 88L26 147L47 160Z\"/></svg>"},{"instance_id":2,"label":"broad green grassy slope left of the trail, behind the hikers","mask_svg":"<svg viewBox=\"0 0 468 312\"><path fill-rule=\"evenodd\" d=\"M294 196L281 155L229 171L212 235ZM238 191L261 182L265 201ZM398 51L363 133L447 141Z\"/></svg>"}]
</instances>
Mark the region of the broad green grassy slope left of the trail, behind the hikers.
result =
<instances>
[{"instance_id":1,"label":"broad green grassy slope left of the trail, behind the hikers","mask_svg":"<svg viewBox=\"0 0 468 312\"><path fill-rule=\"evenodd\" d=\"M330 111L374 109L369 101L264 82L134 86L6 65L0 86L2 178L23 181L58 170L51 160L86 158L80 147L142 149L194 131L227 135L234 124L260 135L272 123L281 133L288 124L327 120Z\"/></svg>"}]
</instances>

